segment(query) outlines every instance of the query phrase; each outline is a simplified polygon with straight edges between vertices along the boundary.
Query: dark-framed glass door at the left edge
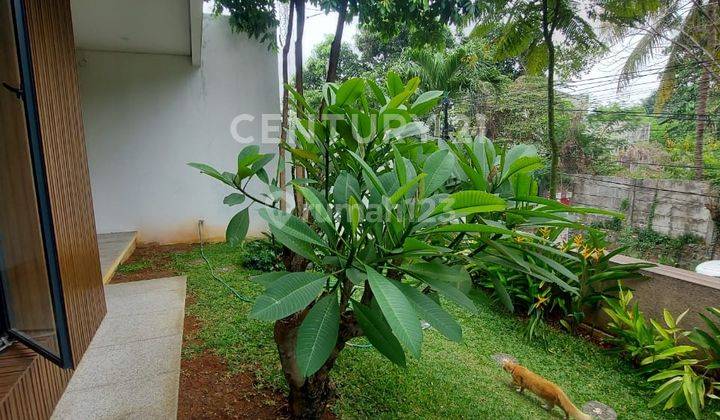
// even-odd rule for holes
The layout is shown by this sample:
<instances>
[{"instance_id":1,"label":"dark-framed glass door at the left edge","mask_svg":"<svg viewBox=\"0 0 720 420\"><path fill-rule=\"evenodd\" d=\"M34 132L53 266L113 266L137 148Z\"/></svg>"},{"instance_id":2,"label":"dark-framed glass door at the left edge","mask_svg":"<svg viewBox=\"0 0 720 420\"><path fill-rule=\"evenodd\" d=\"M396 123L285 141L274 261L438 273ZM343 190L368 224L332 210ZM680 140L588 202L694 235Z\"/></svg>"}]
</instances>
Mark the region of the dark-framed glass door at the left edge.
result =
<instances>
[{"instance_id":1,"label":"dark-framed glass door at the left edge","mask_svg":"<svg viewBox=\"0 0 720 420\"><path fill-rule=\"evenodd\" d=\"M71 367L22 0L0 0L0 326Z\"/></svg>"}]
</instances>

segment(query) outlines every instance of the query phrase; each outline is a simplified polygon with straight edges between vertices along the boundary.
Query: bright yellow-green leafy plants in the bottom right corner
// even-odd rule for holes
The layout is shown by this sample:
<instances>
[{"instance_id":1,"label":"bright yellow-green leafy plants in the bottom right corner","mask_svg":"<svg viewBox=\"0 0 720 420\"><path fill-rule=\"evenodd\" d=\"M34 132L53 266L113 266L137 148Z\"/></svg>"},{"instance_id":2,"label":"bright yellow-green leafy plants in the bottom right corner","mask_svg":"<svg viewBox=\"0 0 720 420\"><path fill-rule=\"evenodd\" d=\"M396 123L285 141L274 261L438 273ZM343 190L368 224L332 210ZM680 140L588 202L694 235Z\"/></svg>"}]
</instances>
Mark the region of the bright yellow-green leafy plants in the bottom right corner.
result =
<instances>
[{"instance_id":1,"label":"bright yellow-green leafy plants in the bottom right corner","mask_svg":"<svg viewBox=\"0 0 720 420\"><path fill-rule=\"evenodd\" d=\"M664 404L663 408L669 410L687 406L695 418L701 418L706 397L717 399L713 390L720 389L715 382L720 373L718 324L701 315L709 332L697 327L683 330L679 324L688 311L673 317L664 310L665 325L648 320L638 303L632 302L632 292L622 289L617 299L604 299L607 307L603 310L610 316L608 327L615 336L612 341L617 349L639 364L649 382L661 381L650 407ZM708 312L720 320L719 309L708 308ZM688 341L694 345L685 344ZM700 352L703 359L698 358Z\"/></svg>"}]
</instances>

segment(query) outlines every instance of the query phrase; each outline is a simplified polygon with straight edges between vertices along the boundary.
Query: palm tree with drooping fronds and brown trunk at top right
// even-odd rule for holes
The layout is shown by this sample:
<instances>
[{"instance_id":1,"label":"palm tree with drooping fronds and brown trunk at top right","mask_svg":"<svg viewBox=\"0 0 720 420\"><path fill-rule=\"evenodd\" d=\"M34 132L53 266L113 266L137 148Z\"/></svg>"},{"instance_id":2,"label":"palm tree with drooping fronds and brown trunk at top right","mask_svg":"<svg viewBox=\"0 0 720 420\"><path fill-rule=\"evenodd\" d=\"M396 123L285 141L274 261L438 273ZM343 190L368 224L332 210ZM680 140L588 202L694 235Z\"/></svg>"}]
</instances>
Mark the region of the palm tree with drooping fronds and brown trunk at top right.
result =
<instances>
[{"instance_id":1,"label":"palm tree with drooping fronds and brown trunk at top right","mask_svg":"<svg viewBox=\"0 0 720 420\"><path fill-rule=\"evenodd\" d=\"M626 87L637 77L638 71L658 53L668 51L668 61L660 77L660 86L655 99L655 111L663 110L666 101L678 83L678 73L688 62L700 66L698 79L698 95L695 103L695 179L703 178L703 140L707 125L707 98L710 90L710 78L720 81L718 75L718 23L715 17L718 11L718 0L664 2L663 6L650 10L623 10L612 13L609 9L606 21L609 38L621 39L631 31L643 34L625 60L618 91ZM688 9L689 7L689 9ZM619 17L617 16L619 15Z\"/></svg>"}]
</instances>

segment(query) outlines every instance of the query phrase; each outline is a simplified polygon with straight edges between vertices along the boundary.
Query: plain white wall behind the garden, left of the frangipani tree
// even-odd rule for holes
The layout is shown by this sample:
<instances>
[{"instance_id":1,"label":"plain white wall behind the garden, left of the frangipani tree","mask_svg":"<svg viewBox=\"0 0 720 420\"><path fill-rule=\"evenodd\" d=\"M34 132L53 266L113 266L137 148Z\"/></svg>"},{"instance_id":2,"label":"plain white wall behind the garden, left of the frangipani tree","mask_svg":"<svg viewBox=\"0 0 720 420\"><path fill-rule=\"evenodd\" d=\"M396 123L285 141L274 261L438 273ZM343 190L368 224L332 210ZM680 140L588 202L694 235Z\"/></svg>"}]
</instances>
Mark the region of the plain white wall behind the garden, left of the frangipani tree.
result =
<instances>
[{"instance_id":1,"label":"plain white wall behind the garden, left of the frangipani tree","mask_svg":"<svg viewBox=\"0 0 720 420\"><path fill-rule=\"evenodd\" d=\"M199 68L189 57L99 51L78 51L78 66L98 232L189 242L204 219L207 237L222 237L241 207L223 205L229 188L186 163L234 172L239 114L256 116L238 134L259 143L261 114L279 112L277 56L206 16ZM251 212L251 234L264 228Z\"/></svg>"}]
</instances>

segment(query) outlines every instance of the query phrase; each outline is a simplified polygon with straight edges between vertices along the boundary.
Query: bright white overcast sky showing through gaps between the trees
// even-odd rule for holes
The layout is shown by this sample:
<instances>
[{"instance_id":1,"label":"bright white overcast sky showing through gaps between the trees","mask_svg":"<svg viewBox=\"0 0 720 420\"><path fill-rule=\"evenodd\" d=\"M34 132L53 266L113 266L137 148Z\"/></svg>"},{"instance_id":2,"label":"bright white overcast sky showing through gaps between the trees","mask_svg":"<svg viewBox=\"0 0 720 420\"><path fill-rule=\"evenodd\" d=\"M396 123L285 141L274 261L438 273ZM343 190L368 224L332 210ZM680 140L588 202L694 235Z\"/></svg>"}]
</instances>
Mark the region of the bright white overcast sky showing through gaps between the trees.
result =
<instances>
[{"instance_id":1,"label":"bright white overcast sky showing through gaps between the trees","mask_svg":"<svg viewBox=\"0 0 720 420\"><path fill-rule=\"evenodd\" d=\"M206 2L204 7L206 13L212 12L212 2ZM326 15L312 6L307 7L303 36L304 60L307 60L310 56L310 52L315 45L322 42L328 35L335 33L336 24L337 13L333 12ZM343 40L352 42L356 33L356 22L346 24ZM612 46L605 56L585 73L573 78L566 86L560 86L559 89L571 94L589 95L591 107L611 102L622 102L628 105L640 103L659 85L659 75L656 73L657 69L664 64L664 58L659 57L651 60L645 66L646 71L642 71L641 75L633 79L628 87L617 92L620 70L639 38L639 36L631 36L624 42ZM280 57L278 56L279 60ZM289 68L292 69L293 67L294 57L293 54L290 54Z\"/></svg>"}]
</instances>

